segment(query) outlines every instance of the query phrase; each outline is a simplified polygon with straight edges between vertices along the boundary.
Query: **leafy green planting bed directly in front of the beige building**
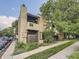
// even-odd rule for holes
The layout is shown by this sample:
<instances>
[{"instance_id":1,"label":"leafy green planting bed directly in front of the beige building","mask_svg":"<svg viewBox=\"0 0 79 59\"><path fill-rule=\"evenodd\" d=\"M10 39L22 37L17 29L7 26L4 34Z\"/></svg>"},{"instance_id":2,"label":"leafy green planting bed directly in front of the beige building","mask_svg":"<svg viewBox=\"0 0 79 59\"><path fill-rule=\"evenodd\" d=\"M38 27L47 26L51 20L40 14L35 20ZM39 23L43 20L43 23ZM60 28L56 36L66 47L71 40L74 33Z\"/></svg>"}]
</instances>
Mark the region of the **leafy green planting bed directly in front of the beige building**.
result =
<instances>
[{"instance_id":1,"label":"leafy green planting bed directly in front of the beige building","mask_svg":"<svg viewBox=\"0 0 79 59\"><path fill-rule=\"evenodd\" d=\"M23 52L33 50L35 48L38 48L39 46L40 45L38 45L36 42L27 43L27 44L16 42L16 46L15 46L13 55L17 55L17 54L21 54Z\"/></svg>"}]
</instances>

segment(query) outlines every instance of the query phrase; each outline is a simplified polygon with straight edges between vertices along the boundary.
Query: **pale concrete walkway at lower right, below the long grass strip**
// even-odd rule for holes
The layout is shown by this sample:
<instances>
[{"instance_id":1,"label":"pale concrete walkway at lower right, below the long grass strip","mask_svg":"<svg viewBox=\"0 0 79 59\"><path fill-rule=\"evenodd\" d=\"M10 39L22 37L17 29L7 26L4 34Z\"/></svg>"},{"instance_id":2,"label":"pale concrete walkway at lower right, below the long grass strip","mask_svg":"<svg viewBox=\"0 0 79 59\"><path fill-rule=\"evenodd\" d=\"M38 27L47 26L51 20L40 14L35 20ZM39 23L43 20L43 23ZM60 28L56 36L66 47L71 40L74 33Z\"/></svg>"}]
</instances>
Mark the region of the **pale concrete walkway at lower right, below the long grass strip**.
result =
<instances>
[{"instance_id":1,"label":"pale concrete walkway at lower right, below the long grass strip","mask_svg":"<svg viewBox=\"0 0 79 59\"><path fill-rule=\"evenodd\" d=\"M79 42L76 42L73 45L63 49L48 59L68 59L68 56L70 56L76 48L79 48Z\"/></svg>"}]
</instances>

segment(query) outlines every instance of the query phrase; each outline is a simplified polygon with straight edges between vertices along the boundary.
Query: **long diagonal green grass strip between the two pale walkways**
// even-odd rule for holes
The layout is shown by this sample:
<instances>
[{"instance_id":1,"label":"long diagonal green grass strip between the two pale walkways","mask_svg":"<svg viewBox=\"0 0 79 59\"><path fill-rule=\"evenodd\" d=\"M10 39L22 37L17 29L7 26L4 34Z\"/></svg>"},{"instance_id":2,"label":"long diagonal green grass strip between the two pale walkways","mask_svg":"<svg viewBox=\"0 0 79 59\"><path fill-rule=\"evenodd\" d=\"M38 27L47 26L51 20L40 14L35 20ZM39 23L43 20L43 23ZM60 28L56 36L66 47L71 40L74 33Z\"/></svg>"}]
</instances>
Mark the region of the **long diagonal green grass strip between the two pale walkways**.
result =
<instances>
[{"instance_id":1,"label":"long diagonal green grass strip between the two pale walkways","mask_svg":"<svg viewBox=\"0 0 79 59\"><path fill-rule=\"evenodd\" d=\"M33 55L31 55L31 56L29 56L29 57L27 57L25 59L48 59L48 57L56 54L57 52L61 51L64 48L72 45L74 42L76 42L76 41L74 41L74 40L69 41L69 42L61 44L59 46L47 49L47 50L45 50L43 52L33 54Z\"/></svg>"}]
</instances>

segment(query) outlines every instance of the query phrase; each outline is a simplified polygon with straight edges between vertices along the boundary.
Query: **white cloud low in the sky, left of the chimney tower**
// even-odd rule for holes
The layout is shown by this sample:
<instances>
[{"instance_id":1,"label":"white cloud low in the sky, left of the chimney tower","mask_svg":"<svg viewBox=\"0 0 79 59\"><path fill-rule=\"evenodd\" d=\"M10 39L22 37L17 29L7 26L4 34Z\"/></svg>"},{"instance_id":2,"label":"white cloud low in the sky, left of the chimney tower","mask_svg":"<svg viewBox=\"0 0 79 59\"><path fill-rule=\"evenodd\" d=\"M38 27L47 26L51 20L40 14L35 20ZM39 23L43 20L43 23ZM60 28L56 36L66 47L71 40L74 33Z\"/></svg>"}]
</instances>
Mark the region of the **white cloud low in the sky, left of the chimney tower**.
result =
<instances>
[{"instance_id":1,"label":"white cloud low in the sky, left of the chimney tower","mask_svg":"<svg viewBox=\"0 0 79 59\"><path fill-rule=\"evenodd\" d=\"M7 27L11 27L12 22L14 22L16 19L16 17L11 16L0 16L0 30Z\"/></svg>"}]
</instances>

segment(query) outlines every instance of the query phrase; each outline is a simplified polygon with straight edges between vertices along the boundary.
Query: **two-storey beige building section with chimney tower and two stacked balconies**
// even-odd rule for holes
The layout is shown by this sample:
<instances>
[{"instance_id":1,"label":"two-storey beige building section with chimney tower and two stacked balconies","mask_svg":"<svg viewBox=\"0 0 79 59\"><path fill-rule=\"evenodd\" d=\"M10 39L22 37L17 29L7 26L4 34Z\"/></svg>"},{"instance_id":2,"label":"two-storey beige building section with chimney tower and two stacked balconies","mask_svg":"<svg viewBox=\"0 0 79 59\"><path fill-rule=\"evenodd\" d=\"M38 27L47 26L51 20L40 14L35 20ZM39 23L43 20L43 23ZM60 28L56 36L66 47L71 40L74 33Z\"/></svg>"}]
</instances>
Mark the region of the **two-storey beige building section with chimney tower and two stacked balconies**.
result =
<instances>
[{"instance_id":1,"label":"two-storey beige building section with chimney tower and two stacked balconies","mask_svg":"<svg viewBox=\"0 0 79 59\"><path fill-rule=\"evenodd\" d=\"M23 4L20 10L18 21L18 41L23 43L39 42L43 43L42 32L43 19L27 12L27 8Z\"/></svg>"}]
</instances>

